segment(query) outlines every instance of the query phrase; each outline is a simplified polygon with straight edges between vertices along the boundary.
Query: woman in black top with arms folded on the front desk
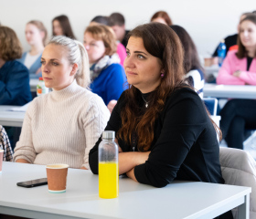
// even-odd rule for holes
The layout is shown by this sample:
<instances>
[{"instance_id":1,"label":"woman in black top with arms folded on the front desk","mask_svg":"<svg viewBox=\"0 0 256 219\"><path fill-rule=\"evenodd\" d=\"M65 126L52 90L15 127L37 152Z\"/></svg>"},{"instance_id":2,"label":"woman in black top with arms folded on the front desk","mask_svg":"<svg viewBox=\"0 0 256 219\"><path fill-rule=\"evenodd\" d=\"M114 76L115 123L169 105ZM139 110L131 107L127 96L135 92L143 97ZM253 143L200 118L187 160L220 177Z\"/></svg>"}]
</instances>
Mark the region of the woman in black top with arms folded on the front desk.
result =
<instances>
[{"instance_id":1,"label":"woman in black top with arms folded on the front desk","mask_svg":"<svg viewBox=\"0 0 256 219\"><path fill-rule=\"evenodd\" d=\"M155 187L175 179L224 183L214 125L197 93L183 83L184 54L178 36L163 24L137 26L126 50L130 86L105 129L116 132L119 173ZM100 142L101 138L89 154L96 174Z\"/></svg>"}]
</instances>

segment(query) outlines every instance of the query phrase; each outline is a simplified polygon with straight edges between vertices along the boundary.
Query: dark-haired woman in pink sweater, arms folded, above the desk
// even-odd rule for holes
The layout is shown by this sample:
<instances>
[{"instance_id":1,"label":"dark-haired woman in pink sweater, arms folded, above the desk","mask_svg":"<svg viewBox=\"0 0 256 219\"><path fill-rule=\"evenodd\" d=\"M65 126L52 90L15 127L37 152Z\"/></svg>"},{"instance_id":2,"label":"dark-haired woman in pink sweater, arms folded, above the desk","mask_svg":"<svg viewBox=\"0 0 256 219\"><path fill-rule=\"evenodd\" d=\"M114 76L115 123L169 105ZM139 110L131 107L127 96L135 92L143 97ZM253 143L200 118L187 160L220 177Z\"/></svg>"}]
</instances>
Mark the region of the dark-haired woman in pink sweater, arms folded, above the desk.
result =
<instances>
[{"instance_id":1,"label":"dark-haired woman in pink sweater, arms folded, above the desk","mask_svg":"<svg viewBox=\"0 0 256 219\"><path fill-rule=\"evenodd\" d=\"M239 49L228 52L216 79L217 84L256 85L256 15L245 17L240 22Z\"/></svg>"}]
</instances>

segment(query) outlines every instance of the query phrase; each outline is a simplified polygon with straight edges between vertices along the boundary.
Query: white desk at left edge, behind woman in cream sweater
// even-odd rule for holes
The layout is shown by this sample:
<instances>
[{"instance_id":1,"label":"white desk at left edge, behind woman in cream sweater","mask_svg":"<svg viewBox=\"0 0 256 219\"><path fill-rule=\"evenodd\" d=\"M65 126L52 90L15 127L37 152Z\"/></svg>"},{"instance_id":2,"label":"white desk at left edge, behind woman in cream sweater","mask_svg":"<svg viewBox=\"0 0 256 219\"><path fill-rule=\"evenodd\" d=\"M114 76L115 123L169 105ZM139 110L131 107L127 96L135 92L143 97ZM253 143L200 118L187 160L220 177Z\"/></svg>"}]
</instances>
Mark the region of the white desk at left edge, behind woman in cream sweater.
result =
<instances>
[{"instance_id":1,"label":"white desk at left edge, behind woman in cream sweater","mask_svg":"<svg viewBox=\"0 0 256 219\"><path fill-rule=\"evenodd\" d=\"M22 127L26 112L8 111L17 106L3 106L0 105L0 125Z\"/></svg>"}]
</instances>

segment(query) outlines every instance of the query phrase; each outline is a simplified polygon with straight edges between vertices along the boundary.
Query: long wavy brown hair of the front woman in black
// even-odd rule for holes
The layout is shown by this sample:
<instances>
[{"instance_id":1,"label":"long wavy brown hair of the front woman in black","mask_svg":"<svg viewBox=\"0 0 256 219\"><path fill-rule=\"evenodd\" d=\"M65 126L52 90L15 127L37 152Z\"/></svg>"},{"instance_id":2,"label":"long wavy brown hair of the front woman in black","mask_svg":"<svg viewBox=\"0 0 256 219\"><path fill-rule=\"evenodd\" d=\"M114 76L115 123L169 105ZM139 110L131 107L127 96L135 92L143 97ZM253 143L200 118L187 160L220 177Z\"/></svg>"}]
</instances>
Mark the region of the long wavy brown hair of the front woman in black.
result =
<instances>
[{"instance_id":1,"label":"long wavy brown hair of the front woman in black","mask_svg":"<svg viewBox=\"0 0 256 219\"><path fill-rule=\"evenodd\" d=\"M143 136L138 138L139 151L148 151L154 140L155 120L164 109L166 97L175 89L184 87L183 48L176 33L169 26L160 23L137 26L129 33L128 37L130 36L142 38L146 51L159 58L165 71L160 85L150 95L149 108L144 115L141 115L136 101L140 91L133 85L129 85L129 89L125 91L127 104L121 113L122 128L118 131L117 138L131 143L132 134L136 132L138 136Z\"/></svg>"}]
</instances>

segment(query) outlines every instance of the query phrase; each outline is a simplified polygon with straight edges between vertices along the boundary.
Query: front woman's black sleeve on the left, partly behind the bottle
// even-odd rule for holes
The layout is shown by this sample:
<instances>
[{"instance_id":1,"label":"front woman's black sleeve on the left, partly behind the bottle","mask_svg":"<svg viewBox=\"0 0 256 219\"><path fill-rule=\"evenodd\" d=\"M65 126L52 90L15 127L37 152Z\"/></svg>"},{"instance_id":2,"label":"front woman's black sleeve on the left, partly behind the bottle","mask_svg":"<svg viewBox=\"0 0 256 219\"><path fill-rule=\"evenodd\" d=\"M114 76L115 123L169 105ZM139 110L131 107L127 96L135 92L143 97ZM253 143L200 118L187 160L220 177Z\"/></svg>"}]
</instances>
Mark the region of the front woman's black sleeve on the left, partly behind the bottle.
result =
<instances>
[{"instance_id":1,"label":"front woman's black sleeve on the left, partly behind the bottle","mask_svg":"<svg viewBox=\"0 0 256 219\"><path fill-rule=\"evenodd\" d=\"M117 104L115 105L114 109L112 110L112 115L105 130L114 130L115 134L121 128L122 120L121 120L121 108L124 102L124 92L121 95L120 99L118 99ZM91 172L94 174L98 174L98 148L99 144L101 143L101 137L96 142L94 147L91 149L89 153L89 164L91 168Z\"/></svg>"}]
</instances>

